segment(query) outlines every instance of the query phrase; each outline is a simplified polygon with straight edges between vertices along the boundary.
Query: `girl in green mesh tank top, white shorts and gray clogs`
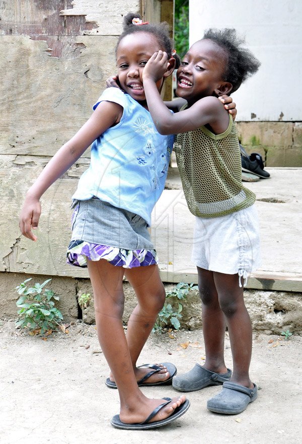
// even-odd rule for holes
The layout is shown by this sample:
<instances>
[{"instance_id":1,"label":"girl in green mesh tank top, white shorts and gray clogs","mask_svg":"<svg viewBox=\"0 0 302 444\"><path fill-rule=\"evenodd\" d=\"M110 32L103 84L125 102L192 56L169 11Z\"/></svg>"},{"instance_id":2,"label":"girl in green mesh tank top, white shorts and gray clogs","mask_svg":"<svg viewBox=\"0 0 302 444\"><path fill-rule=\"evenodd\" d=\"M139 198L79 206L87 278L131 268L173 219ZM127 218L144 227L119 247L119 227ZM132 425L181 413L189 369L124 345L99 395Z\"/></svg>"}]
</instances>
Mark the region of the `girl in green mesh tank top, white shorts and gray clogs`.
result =
<instances>
[{"instance_id":1,"label":"girl in green mesh tank top, white shorts and gray clogs","mask_svg":"<svg viewBox=\"0 0 302 444\"><path fill-rule=\"evenodd\" d=\"M234 29L209 30L192 45L177 72L176 94L186 106L171 114L156 89L167 68L159 51L143 70L148 109L161 134L177 134L175 151L185 197L196 216L193 261L202 301L206 361L173 378L190 392L223 384L207 402L213 412L237 414L257 398L249 366L252 327L244 304L247 273L260 264L255 195L243 187L235 124L218 100L236 91L259 66ZM233 374L224 363L225 323L231 341Z\"/></svg>"}]
</instances>

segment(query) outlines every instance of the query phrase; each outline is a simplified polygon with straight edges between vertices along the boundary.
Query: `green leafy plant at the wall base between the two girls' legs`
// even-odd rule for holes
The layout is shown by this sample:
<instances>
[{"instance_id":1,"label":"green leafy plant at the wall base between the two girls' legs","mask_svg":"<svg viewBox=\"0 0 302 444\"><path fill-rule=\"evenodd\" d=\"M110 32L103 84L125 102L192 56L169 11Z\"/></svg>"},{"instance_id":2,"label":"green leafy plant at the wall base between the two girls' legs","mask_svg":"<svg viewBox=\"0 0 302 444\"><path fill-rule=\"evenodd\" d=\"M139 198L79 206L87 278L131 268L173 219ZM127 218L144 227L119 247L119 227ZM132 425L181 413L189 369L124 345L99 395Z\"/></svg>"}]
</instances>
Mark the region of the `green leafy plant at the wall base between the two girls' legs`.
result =
<instances>
[{"instance_id":1,"label":"green leafy plant at the wall base between the two girls' legs","mask_svg":"<svg viewBox=\"0 0 302 444\"><path fill-rule=\"evenodd\" d=\"M182 318L183 306L179 300L185 300L189 291L198 289L197 285L180 282L171 291L166 293L166 302L159 312L158 319L153 327L153 332L162 332L165 327L172 327L174 330L180 329L180 319ZM172 304L167 302L171 299ZM175 306L177 308L175 308Z\"/></svg>"}]
</instances>

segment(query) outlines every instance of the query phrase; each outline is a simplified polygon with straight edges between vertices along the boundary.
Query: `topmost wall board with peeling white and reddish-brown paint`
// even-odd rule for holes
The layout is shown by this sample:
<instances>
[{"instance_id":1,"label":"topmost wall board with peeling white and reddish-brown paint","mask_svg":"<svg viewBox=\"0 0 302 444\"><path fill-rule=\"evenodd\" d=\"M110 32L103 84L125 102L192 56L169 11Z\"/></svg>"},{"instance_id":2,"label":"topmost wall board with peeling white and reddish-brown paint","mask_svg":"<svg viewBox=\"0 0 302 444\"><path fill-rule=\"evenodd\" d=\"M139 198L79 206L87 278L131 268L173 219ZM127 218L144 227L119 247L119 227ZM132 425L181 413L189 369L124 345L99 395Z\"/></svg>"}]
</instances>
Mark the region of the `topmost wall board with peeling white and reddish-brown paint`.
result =
<instances>
[{"instance_id":1,"label":"topmost wall board with peeling white and reddish-brown paint","mask_svg":"<svg viewBox=\"0 0 302 444\"><path fill-rule=\"evenodd\" d=\"M149 10L153 9L154 3ZM123 16L139 11L139 0L10 0L1 2L2 34L8 35L119 35Z\"/></svg>"}]
</instances>

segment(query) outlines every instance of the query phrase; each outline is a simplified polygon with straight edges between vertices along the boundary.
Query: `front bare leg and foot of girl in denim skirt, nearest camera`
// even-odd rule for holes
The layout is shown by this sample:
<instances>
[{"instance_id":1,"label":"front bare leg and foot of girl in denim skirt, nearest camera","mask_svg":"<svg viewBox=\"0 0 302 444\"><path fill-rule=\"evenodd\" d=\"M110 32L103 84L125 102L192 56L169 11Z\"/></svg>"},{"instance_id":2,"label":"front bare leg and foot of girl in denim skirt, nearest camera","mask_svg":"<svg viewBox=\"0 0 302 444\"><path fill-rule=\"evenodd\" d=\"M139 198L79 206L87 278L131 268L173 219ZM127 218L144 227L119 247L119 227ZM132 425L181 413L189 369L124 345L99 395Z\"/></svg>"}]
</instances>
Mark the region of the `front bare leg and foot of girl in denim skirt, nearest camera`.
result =
<instances>
[{"instance_id":1,"label":"front bare leg and foot of girl in denim skirt, nearest camera","mask_svg":"<svg viewBox=\"0 0 302 444\"><path fill-rule=\"evenodd\" d=\"M125 423L144 421L163 403L162 399L146 398L139 390L122 326L124 269L105 260L88 261L94 290L96 324L99 342L113 373L120 397L120 419ZM152 421L169 417L185 397L174 398Z\"/></svg>"}]
</instances>

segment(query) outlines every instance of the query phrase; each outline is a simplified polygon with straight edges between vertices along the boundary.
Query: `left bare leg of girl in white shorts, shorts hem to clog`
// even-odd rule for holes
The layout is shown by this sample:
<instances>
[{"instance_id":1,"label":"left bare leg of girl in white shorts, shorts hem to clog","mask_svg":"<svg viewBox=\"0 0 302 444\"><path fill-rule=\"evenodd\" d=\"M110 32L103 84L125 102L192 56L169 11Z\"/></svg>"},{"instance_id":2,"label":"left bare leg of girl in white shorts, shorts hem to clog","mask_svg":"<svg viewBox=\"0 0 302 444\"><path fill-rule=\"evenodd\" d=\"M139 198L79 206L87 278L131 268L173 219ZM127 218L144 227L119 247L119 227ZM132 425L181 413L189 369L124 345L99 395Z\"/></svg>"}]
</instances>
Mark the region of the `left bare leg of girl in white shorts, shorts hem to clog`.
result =
<instances>
[{"instance_id":1,"label":"left bare leg of girl in white shorts, shorts hem to clog","mask_svg":"<svg viewBox=\"0 0 302 444\"><path fill-rule=\"evenodd\" d=\"M202 302L202 330L207 370L226 373L224 363L225 318L219 306L213 272L197 267L198 288Z\"/></svg>"}]
</instances>

